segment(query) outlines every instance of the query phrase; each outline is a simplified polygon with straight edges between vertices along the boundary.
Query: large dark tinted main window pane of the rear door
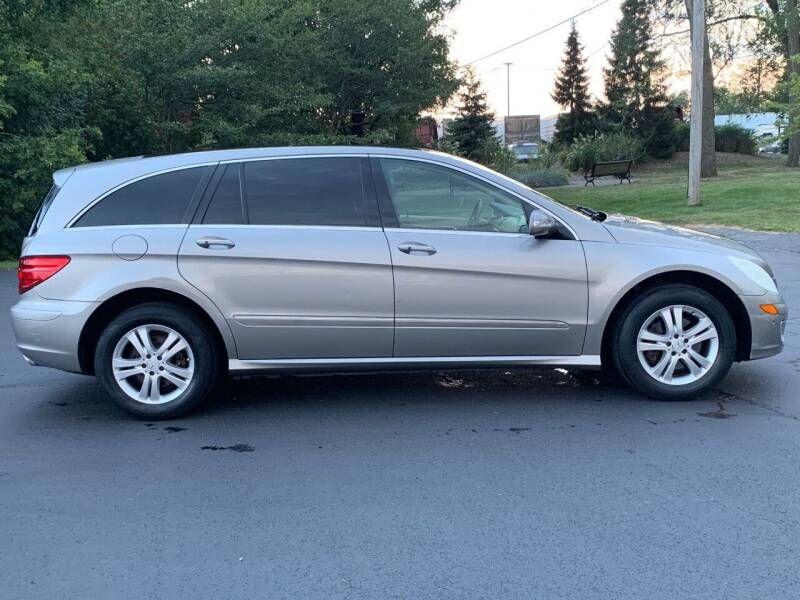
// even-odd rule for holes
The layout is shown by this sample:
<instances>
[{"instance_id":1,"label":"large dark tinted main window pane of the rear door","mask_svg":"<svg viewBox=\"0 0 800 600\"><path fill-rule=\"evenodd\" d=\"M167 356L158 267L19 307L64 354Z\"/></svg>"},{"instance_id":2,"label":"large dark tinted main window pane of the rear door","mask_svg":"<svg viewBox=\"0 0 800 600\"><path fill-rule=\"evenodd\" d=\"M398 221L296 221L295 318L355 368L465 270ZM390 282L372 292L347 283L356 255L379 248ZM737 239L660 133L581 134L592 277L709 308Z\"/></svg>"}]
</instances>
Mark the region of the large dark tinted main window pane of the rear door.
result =
<instances>
[{"instance_id":1,"label":"large dark tinted main window pane of the rear door","mask_svg":"<svg viewBox=\"0 0 800 600\"><path fill-rule=\"evenodd\" d=\"M250 223L366 225L358 158L292 158L245 163Z\"/></svg>"}]
</instances>

